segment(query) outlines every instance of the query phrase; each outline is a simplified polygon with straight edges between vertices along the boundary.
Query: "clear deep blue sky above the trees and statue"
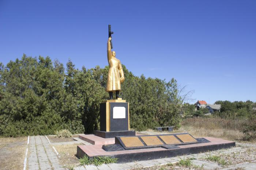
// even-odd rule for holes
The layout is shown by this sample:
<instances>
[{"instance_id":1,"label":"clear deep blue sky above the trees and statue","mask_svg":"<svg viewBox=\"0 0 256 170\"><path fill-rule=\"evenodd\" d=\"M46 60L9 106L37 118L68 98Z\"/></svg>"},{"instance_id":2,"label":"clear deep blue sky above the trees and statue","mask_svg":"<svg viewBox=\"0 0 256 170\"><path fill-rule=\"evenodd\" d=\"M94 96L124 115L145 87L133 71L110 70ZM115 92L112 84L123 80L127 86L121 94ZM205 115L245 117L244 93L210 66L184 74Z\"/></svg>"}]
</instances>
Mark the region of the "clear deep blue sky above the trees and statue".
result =
<instances>
[{"instance_id":1,"label":"clear deep blue sky above the trees and statue","mask_svg":"<svg viewBox=\"0 0 256 170\"><path fill-rule=\"evenodd\" d=\"M104 67L108 24L136 76L174 77L191 103L256 101L255 0L0 0L0 62L25 53Z\"/></svg>"}]
</instances>

